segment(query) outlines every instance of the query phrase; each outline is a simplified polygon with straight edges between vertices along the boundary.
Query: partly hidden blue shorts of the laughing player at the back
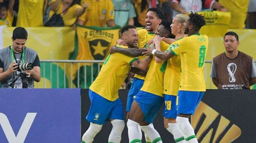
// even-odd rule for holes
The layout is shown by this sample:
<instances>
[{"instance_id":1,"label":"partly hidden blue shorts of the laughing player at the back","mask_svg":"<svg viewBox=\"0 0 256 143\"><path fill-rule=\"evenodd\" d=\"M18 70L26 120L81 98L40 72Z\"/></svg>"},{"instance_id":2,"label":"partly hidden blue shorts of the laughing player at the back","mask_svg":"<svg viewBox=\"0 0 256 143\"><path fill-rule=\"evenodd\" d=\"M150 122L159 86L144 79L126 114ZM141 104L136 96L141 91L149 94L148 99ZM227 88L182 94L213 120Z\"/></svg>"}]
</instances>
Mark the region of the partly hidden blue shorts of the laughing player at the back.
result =
<instances>
[{"instance_id":1,"label":"partly hidden blue shorts of the laughing player at the back","mask_svg":"<svg viewBox=\"0 0 256 143\"><path fill-rule=\"evenodd\" d=\"M128 92L127 96L127 105L126 105L126 111L130 112L133 102L133 96L135 96L140 90L144 83L144 80L133 78L133 83L131 85L131 88Z\"/></svg>"}]
</instances>

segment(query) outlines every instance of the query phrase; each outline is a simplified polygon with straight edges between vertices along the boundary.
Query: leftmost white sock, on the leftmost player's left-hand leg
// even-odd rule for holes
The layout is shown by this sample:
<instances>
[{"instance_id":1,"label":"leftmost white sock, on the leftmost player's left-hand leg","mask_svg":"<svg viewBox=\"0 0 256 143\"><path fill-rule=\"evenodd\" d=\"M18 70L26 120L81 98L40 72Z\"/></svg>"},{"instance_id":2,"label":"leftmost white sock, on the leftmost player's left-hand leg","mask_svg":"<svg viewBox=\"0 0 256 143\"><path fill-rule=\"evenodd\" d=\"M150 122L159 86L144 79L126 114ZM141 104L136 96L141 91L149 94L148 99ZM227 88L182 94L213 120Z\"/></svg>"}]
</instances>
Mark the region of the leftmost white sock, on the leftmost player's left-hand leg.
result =
<instances>
[{"instance_id":1,"label":"leftmost white sock, on the leftmost player's left-hand leg","mask_svg":"<svg viewBox=\"0 0 256 143\"><path fill-rule=\"evenodd\" d=\"M90 123L90 127L84 133L82 140L86 143L91 143L96 134L101 131L101 128L102 125Z\"/></svg>"}]
</instances>

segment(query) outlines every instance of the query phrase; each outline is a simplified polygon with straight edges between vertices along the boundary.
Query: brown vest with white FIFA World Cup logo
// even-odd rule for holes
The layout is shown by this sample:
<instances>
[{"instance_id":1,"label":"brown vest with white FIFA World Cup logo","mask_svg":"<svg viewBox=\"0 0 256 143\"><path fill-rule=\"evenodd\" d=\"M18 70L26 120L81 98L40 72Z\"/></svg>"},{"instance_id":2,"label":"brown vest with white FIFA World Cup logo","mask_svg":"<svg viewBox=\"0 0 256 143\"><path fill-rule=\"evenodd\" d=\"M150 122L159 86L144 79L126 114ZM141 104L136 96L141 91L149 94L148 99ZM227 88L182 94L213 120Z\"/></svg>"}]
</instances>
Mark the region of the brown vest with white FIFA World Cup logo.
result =
<instances>
[{"instance_id":1,"label":"brown vest with white FIFA World Cup logo","mask_svg":"<svg viewBox=\"0 0 256 143\"><path fill-rule=\"evenodd\" d=\"M229 59L225 53L213 58L218 80L218 89L250 89L252 57L239 51L235 59Z\"/></svg>"}]
</instances>

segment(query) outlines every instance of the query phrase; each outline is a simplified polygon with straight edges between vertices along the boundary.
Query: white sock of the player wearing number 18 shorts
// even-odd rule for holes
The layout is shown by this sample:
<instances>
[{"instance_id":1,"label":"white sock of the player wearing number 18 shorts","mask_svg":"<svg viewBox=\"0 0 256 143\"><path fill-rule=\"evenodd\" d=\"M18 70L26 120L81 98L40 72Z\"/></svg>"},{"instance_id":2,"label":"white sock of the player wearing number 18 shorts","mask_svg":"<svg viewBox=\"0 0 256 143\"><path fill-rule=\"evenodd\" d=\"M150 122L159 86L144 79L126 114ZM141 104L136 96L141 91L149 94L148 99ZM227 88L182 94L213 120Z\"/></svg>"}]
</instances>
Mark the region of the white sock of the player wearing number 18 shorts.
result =
<instances>
[{"instance_id":1,"label":"white sock of the player wearing number 18 shorts","mask_svg":"<svg viewBox=\"0 0 256 143\"><path fill-rule=\"evenodd\" d=\"M187 143L184 135L177 123L168 123L167 131L169 131L175 140L176 143Z\"/></svg>"}]
</instances>

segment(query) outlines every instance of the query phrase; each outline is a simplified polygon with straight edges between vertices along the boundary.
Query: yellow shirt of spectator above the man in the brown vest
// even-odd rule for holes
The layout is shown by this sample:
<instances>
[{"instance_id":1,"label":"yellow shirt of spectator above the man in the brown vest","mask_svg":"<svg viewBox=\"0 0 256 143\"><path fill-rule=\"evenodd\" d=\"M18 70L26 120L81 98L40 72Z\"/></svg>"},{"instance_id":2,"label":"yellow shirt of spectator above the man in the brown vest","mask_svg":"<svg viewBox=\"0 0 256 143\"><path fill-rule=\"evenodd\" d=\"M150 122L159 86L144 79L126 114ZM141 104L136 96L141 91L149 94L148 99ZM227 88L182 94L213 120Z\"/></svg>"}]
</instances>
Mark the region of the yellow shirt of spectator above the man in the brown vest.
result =
<instances>
[{"instance_id":1,"label":"yellow shirt of spectator above the man in the brown vest","mask_svg":"<svg viewBox=\"0 0 256 143\"><path fill-rule=\"evenodd\" d=\"M217 0L219 3L231 12L229 28L243 29L247 15L249 0Z\"/></svg>"}]
</instances>

